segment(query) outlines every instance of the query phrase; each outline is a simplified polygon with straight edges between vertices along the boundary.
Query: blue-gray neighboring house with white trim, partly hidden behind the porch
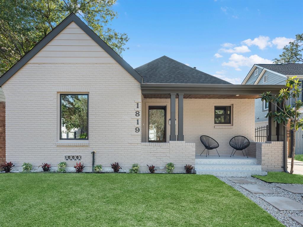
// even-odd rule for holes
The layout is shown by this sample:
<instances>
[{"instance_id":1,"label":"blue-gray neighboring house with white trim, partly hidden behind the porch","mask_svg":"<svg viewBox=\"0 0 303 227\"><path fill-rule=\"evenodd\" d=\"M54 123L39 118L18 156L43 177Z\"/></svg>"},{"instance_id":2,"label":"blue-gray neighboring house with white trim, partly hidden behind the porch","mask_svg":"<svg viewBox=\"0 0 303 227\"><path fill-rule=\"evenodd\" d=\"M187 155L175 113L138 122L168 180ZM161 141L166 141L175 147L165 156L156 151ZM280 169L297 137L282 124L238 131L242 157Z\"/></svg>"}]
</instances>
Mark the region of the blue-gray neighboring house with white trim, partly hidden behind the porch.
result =
<instances>
[{"instance_id":1,"label":"blue-gray neighboring house with white trim, partly hidden behind the porch","mask_svg":"<svg viewBox=\"0 0 303 227\"><path fill-rule=\"evenodd\" d=\"M285 84L287 77L297 76L303 79L303 64L287 63L287 64L255 64L242 84ZM303 96L301 97L303 100ZM289 100L288 104L292 104L293 100ZM303 110L302 110L303 111ZM263 127L268 125L266 114L268 113L268 103L255 100L255 127ZM303 154L303 131L296 132L296 154Z\"/></svg>"}]
</instances>

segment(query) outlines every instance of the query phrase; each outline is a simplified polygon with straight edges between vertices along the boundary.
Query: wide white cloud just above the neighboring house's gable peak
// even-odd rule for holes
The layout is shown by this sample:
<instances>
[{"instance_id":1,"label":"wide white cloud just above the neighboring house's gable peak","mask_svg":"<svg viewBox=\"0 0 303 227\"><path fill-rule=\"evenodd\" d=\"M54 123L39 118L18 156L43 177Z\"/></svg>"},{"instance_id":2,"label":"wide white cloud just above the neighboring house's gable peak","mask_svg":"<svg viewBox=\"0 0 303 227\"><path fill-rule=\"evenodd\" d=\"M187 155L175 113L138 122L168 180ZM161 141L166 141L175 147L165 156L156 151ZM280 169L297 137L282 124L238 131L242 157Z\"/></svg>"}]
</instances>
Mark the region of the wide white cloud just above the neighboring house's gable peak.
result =
<instances>
[{"instance_id":1,"label":"wide white cloud just above the neighboring house's gable peak","mask_svg":"<svg viewBox=\"0 0 303 227\"><path fill-rule=\"evenodd\" d=\"M238 69L241 66L251 67L253 64L272 64L271 60L261 58L257 54L251 55L249 57L245 57L241 54L231 54L228 62L223 62L222 66L229 66Z\"/></svg>"}]
</instances>

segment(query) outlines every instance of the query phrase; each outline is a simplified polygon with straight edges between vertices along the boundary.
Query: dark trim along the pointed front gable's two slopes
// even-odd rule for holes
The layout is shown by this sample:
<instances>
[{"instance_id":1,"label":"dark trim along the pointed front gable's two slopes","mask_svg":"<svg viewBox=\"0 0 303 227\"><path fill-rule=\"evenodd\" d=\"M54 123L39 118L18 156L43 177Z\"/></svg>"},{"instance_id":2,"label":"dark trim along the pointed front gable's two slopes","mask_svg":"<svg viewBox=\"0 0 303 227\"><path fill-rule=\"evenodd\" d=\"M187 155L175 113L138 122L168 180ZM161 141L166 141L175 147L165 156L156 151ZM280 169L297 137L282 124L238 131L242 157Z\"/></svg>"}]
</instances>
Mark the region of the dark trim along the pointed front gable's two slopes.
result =
<instances>
[{"instance_id":1,"label":"dark trim along the pointed front gable's two slopes","mask_svg":"<svg viewBox=\"0 0 303 227\"><path fill-rule=\"evenodd\" d=\"M74 13L68 15L60 24L49 32L40 42L38 42L27 54L25 54L16 64L14 64L5 74L0 77L0 86L11 78L22 66L24 66L32 57L35 56L46 44L48 44L56 35L58 35L67 25L74 21L85 33L91 37L100 47L102 47L115 61L117 61L129 74L131 74L139 83L142 83L142 77L120 57L110 46L108 46L95 32L92 31L80 18Z\"/></svg>"}]
</instances>

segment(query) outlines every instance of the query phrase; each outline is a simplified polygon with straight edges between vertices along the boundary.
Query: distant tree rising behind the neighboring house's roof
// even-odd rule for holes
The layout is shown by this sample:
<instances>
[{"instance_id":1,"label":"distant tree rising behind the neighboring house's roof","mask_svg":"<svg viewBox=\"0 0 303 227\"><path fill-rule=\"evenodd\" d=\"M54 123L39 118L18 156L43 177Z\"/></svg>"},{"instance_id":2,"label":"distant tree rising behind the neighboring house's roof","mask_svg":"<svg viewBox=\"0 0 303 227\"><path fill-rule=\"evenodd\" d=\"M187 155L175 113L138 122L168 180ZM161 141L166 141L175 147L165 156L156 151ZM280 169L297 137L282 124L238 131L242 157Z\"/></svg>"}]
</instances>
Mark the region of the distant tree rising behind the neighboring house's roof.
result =
<instances>
[{"instance_id":1,"label":"distant tree rising behind the neighboring house's roof","mask_svg":"<svg viewBox=\"0 0 303 227\"><path fill-rule=\"evenodd\" d=\"M283 53L279 55L280 58L275 58L275 64L286 64L288 62L303 63L303 33L296 35L296 40L289 42L283 48Z\"/></svg>"}]
</instances>

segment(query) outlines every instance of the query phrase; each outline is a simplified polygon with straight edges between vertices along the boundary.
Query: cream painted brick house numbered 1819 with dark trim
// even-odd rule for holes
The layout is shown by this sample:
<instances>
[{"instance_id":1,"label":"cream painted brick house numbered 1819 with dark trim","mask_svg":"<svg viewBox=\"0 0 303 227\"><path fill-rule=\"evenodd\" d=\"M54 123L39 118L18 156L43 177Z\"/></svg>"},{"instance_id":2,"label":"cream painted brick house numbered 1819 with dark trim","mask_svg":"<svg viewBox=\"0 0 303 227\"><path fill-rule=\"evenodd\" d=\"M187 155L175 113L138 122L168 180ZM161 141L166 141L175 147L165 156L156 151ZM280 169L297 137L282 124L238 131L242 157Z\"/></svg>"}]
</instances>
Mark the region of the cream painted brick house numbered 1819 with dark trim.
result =
<instances>
[{"instance_id":1,"label":"cream painted brick house numbered 1819 with dark trim","mask_svg":"<svg viewBox=\"0 0 303 227\"><path fill-rule=\"evenodd\" d=\"M255 143L252 111L260 93L276 94L282 85L234 85L166 56L133 69L73 13L0 85L6 160L17 169L65 161L72 170L81 161L90 171L93 150L104 170L114 162L122 170L138 163L142 171L172 162L175 171L190 164L200 174L245 176L286 166L282 127L271 130L267 143ZM213 150L200 156L201 135L218 141L220 159ZM249 158L241 151L230 157L237 135L251 141Z\"/></svg>"}]
</instances>

